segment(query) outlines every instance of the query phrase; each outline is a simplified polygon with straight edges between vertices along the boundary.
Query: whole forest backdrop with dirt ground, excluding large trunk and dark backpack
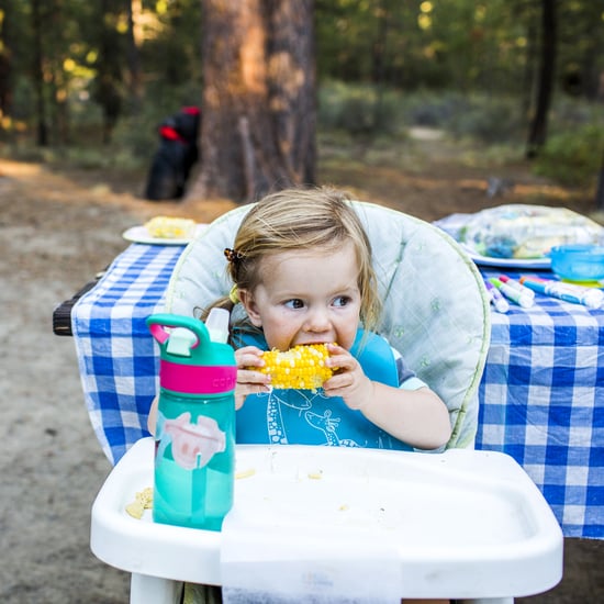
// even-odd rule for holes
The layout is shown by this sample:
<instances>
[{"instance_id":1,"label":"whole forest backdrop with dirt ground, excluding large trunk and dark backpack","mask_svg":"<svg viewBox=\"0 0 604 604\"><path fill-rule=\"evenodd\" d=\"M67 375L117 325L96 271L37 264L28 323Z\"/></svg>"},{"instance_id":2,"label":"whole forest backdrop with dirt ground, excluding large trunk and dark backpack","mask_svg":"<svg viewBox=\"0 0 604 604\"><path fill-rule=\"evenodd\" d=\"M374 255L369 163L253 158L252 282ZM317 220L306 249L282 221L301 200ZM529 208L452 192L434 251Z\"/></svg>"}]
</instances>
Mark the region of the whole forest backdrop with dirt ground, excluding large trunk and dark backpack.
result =
<instances>
[{"instance_id":1,"label":"whole forest backdrop with dirt ground, excluding large trunk and dark backpack","mask_svg":"<svg viewBox=\"0 0 604 604\"><path fill-rule=\"evenodd\" d=\"M317 181L425 220L516 201L592 213L602 199L603 0L0 0L2 603L127 601L127 573L90 551L110 467L53 309L126 228L241 201L141 191L158 124L203 105L209 70L231 74L206 38L250 40L224 35L214 11L260 26L283 7L271 41L295 40L302 15L293 34L314 32L315 102L297 118L316 133ZM602 601L603 548L567 539L561 584L517 603Z\"/></svg>"}]
</instances>

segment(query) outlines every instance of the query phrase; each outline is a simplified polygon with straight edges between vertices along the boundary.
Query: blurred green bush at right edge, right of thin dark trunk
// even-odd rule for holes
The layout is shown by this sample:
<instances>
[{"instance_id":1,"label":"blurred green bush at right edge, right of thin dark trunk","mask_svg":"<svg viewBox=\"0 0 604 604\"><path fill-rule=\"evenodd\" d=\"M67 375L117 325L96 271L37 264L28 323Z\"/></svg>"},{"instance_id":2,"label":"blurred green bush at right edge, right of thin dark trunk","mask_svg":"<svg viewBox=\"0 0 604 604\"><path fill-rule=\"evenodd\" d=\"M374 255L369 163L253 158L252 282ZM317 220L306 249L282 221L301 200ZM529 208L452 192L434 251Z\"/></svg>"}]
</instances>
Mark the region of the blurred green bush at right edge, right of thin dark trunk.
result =
<instances>
[{"instance_id":1,"label":"blurred green bush at right edge, right of thin dark trunk","mask_svg":"<svg viewBox=\"0 0 604 604\"><path fill-rule=\"evenodd\" d=\"M562 184L595 182L604 153L604 124L584 124L549 137L534 163L534 171Z\"/></svg>"}]
</instances>

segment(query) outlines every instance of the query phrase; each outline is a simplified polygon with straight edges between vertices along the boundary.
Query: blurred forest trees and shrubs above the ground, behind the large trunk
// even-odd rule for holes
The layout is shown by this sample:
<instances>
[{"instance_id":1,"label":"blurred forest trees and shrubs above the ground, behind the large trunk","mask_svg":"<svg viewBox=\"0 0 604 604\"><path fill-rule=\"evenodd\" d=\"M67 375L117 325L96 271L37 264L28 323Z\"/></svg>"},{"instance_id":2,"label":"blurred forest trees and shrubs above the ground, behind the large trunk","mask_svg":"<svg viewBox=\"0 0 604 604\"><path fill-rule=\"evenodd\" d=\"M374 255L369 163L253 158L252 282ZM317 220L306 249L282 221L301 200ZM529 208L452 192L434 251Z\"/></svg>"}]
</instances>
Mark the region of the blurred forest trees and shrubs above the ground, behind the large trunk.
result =
<instances>
[{"instance_id":1,"label":"blurred forest trees and shrubs above the ground, behind the large trunk","mask_svg":"<svg viewBox=\"0 0 604 604\"><path fill-rule=\"evenodd\" d=\"M602 0L222 4L251 14L288 3L310 7L320 154L393 146L428 126L471 139L474 160L529 157L535 174L604 206ZM220 4L1 0L1 153L148 166L157 125L202 103L201 32Z\"/></svg>"}]
</instances>

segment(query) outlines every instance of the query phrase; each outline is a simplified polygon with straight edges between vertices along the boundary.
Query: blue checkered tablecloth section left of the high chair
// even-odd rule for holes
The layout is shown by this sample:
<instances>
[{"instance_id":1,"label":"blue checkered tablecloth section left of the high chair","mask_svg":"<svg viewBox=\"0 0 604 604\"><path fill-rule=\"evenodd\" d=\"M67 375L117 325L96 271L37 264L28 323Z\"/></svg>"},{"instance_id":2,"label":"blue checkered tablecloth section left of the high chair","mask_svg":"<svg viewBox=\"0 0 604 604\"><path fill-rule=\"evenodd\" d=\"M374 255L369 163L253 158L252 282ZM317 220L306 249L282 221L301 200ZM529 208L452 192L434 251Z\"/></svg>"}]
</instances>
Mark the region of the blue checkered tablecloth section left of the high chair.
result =
<instances>
[{"instance_id":1,"label":"blue checkered tablecloth section left of the high chair","mask_svg":"<svg viewBox=\"0 0 604 604\"><path fill-rule=\"evenodd\" d=\"M146 318L164 294L183 246L133 244L71 311L71 329L94 433L116 463L143 436L157 392L158 350Z\"/></svg>"}]
</instances>

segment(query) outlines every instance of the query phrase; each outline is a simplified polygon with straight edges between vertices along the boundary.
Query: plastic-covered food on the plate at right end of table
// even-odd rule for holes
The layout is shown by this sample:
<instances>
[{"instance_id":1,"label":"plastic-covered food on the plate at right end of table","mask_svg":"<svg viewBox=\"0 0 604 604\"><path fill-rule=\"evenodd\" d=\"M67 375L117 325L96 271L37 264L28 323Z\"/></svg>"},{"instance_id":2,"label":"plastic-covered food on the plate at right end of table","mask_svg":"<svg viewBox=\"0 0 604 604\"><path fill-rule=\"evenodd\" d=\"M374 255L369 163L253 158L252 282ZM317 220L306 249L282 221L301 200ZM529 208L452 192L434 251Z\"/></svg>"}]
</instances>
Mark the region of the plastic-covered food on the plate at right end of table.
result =
<instances>
[{"instance_id":1,"label":"plastic-covered food on the plate at right end of table","mask_svg":"<svg viewBox=\"0 0 604 604\"><path fill-rule=\"evenodd\" d=\"M473 214L460 230L459 241L491 258L544 258L564 244L593 244L604 227L568 210L544 205L508 204Z\"/></svg>"}]
</instances>

